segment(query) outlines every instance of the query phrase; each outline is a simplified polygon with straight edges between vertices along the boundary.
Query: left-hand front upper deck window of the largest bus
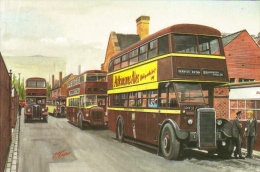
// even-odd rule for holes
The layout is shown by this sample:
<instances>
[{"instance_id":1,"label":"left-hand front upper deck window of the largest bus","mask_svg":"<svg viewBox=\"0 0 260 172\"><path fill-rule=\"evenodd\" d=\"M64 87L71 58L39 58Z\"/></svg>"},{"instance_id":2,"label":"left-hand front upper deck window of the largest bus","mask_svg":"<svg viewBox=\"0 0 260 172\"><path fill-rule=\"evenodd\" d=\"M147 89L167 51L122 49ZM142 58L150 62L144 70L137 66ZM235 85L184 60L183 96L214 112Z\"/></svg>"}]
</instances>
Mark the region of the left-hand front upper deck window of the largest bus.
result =
<instances>
[{"instance_id":1,"label":"left-hand front upper deck window of the largest bus","mask_svg":"<svg viewBox=\"0 0 260 172\"><path fill-rule=\"evenodd\" d=\"M175 51L181 53L197 53L195 35L174 35Z\"/></svg>"}]
</instances>

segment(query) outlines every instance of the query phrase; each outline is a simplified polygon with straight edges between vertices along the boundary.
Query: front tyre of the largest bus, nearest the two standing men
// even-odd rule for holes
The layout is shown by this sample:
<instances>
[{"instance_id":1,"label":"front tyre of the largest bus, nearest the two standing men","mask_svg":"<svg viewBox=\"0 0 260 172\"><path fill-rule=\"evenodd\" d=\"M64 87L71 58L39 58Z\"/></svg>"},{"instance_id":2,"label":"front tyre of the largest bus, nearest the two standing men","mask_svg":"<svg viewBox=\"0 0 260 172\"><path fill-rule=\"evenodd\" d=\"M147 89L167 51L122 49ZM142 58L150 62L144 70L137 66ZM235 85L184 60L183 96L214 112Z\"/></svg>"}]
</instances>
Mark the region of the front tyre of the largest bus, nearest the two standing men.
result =
<instances>
[{"instance_id":1,"label":"front tyre of the largest bus, nearest the two standing men","mask_svg":"<svg viewBox=\"0 0 260 172\"><path fill-rule=\"evenodd\" d=\"M234 150L234 143L231 138L226 139L225 146L222 145L222 142L218 142L217 146L218 146L217 152L218 152L219 157L224 158L224 159L231 158L231 155Z\"/></svg>"}]
</instances>

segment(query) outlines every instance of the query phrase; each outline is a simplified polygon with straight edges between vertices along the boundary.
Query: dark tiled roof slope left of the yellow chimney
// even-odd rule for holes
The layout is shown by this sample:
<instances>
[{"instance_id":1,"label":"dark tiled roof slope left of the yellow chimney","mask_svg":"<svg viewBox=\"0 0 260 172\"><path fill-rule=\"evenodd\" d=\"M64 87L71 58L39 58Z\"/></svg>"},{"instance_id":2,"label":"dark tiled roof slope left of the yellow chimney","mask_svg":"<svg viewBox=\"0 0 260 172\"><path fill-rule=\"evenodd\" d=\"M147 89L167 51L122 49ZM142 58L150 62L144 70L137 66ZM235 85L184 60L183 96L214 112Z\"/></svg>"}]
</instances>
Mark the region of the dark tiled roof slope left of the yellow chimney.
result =
<instances>
[{"instance_id":1,"label":"dark tiled roof slope left of the yellow chimney","mask_svg":"<svg viewBox=\"0 0 260 172\"><path fill-rule=\"evenodd\" d=\"M134 43L140 41L139 35L134 34L116 34L118 39L119 47L122 50L128 48L129 46L133 45Z\"/></svg>"}]
</instances>

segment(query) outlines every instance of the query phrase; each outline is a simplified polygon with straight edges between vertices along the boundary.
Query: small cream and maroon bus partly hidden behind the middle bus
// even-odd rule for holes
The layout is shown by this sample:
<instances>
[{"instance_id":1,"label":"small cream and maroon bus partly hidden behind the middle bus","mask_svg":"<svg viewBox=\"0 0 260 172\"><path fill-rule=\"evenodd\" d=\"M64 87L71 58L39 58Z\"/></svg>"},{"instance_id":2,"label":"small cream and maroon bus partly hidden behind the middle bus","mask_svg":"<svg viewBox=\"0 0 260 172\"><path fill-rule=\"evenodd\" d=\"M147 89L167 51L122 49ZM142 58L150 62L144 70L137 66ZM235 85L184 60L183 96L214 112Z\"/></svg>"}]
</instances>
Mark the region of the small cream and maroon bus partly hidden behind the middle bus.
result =
<instances>
[{"instance_id":1,"label":"small cream and maroon bus partly hidden behind the middle bus","mask_svg":"<svg viewBox=\"0 0 260 172\"><path fill-rule=\"evenodd\" d=\"M48 113L55 117L66 117L66 96L47 99Z\"/></svg>"}]
</instances>

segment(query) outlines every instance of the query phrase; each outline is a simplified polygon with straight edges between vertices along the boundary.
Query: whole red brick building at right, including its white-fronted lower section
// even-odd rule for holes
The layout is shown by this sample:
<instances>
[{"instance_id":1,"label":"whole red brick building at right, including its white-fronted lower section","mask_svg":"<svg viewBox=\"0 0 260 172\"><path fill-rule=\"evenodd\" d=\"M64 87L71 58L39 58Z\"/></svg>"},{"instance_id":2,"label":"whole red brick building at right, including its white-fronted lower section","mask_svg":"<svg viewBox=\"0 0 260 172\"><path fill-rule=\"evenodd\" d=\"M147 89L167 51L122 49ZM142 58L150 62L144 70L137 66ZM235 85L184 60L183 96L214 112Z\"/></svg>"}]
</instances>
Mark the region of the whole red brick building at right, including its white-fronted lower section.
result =
<instances>
[{"instance_id":1,"label":"whole red brick building at right, including its white-fronted lower section","mask_svg":"<svg viewBox=\"0 0 260 172\"><path fill-rule=\"evenodd\" d=\"M230 121L236 117L237 111L242 111L244 131L247 110L253 110L255 117L260 120L260 48L246 30L222 40L230 83L214 90L214 108L217 117ZM259 139L258 135L255 150L260 150Z\"/></svg>"}]
</instances>

